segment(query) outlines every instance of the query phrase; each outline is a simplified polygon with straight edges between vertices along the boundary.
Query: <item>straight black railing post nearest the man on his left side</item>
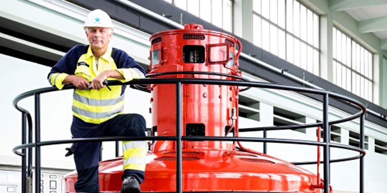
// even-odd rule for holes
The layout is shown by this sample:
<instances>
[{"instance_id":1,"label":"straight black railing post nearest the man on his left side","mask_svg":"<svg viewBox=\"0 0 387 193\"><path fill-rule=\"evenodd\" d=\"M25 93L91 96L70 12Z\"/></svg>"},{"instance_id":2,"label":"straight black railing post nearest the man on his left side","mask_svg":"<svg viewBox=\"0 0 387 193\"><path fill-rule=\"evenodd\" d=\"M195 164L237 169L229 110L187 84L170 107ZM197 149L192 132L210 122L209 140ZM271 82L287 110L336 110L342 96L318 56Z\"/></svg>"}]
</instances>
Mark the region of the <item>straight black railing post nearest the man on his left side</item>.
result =
<instances>
[{"instance_id":1,"label":"straight black railing post nearest the man on his left side","mask_svg":"<svg viewBox=\"0 0 387 193\"><path fill-rule=\"evenodd\" d=\"M35 192L40 193L40 94L35 94Z\"/></svg>"}]
</instances>

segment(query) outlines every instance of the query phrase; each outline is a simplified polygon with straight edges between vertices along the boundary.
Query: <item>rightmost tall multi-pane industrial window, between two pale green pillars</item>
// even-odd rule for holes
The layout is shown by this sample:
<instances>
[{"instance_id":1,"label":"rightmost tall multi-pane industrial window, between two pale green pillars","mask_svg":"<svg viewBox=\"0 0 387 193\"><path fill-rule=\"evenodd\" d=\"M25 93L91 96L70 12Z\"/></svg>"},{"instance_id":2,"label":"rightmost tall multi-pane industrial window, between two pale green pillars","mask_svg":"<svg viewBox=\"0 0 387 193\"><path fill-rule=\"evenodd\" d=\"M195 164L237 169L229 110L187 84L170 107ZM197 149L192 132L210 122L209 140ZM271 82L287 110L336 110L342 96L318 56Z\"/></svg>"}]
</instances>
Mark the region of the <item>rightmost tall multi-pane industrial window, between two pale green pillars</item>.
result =
<instances>
[{"instance_id":1,"label":"rightmost tall multi-pane industrial window, between two pale green pillars","mask_svg":"<svg viewBox=\"0 0 387 193\"><path fill-rule=\"evenodd\" d=\"M333 83L372 102L372 53L333 27Z\"/></svg>"}]
</instances>

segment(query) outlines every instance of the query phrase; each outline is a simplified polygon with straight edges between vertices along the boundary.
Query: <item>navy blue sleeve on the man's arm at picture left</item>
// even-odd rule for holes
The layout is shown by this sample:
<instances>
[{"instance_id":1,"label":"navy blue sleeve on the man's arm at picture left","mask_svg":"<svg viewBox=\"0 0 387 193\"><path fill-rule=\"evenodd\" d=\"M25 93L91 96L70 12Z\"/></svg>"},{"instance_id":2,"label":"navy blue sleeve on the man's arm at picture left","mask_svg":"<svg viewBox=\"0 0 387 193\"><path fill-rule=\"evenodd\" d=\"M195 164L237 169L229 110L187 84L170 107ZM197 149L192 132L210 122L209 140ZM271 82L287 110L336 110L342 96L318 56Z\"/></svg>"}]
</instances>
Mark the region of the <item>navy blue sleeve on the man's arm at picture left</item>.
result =
<instances>
[{"instance_id":1,"label":"navy blue sleeve on the man's arm at picture left","mask_svg":"<svg viewBox=\"0 0 387 193\"><path fill-rule=\"evenodd\" d=\"M79 57L86 53L87 49L88 46L85 45L74 46L51 68L47 78L52 73L74 74Z\"/></svg>"}]
</instances>

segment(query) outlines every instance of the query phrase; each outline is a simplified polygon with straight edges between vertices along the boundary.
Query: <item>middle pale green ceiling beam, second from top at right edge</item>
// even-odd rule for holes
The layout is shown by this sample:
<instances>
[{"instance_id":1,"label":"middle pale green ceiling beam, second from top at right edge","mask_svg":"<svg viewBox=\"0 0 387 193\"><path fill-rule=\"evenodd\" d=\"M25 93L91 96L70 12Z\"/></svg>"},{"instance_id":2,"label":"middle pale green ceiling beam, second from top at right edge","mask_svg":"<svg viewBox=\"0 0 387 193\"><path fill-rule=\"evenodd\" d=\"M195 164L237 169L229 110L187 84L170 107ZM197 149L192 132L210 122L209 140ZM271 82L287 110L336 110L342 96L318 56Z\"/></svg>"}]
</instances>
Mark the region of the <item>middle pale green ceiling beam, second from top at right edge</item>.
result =
<instances>
[{"instance_id":1,"label":"middle pale green ceiling beam, second from top at right edge","mask_svg":"<svg viewBox=\"0 0 387 193\"><path fill-rule=\"evenodd\" d=\"M360 21L358 22L358 30L360 33L387 30L387 16Z\"/></svg>"}]
</instances>

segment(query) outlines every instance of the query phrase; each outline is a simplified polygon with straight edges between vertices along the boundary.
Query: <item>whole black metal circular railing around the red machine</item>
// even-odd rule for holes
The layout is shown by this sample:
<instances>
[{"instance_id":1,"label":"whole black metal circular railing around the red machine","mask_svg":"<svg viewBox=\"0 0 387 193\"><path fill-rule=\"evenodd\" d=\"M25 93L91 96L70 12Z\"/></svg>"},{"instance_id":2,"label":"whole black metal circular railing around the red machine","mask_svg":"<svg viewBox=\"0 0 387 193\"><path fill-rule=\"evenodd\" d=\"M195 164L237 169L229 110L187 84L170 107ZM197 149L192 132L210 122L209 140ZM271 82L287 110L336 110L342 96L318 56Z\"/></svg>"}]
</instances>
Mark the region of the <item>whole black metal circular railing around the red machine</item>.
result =
<instances>
[{"instance_id":1,"label":"whole black metal circular railing around the red machine","mask_svg":"<svg viewBox=\"0 0 387 193\"><path fill-rule=\"evenodd\" d=\"M363 156L365 155L364 150L364 115L366 108L360 102L348 98L337 93L330 91L318 90L313 88L304 88L298 86L278 85L272 83L260 83L253 81L237 81L237 80L214 80L214 79L187 79L187 78L147 78L132 80L130 82L122 83L120 81L108 81L108 85L148 85L148 84L175 84L176 85L176 136L147 136L147 137L94 137L94 138L76 138L67 140L56 140L56 141L40 141L40 94L51 91L57 91L55 87L40 88L36 90L27 91L17 96L14 101L14 107L22 113L22 144L16 146L12 151L22 157L22 193L26 192L26 180L27 177L32 178L32 148L35 148L35 192L40 192L40 172L41 172L41 146L55 145L55 144L67 144L74 142L101 142L101 141L176 141L176 192L182 192L182 141L244 141L244 142L263 142L264 152L266 152L266 143L288 143L288 144L303 144L312 146L323 146L324 147L324 192L329 192L330 184L330 163L348 161L353 159L360 159L360 193L364 192L364 161ZM255 127L247 129L239 129L239 132L248 131L263 131L264 137L209 137L209 136L182 136L182 84L207 84L207 85L229 85L229 86L246 86L256 88L269 88L296 91L302 93L313 93L322 95L323 97L323 121L316 124L304 124L304 125L286 125L277 127ZM66 85L62 90L74 89L73 85ZM31 114L20 107L17 103L27 97L34 96L35 99L35 142L33 142L32 134L32 118ZM343 119L329 121L328 119L328 107L329 98L335 98L344 102L348 102L350 105L354 105L359 108L359 112L345 117ZM330 143L330 125L354 120L360 117L360 147L353 147L343 144L331 144ZM27 124L26 124L27 123ZM26 143L28 125L28 143ZM324 129L324 141L303 141L294 139L273 139L266 138L266 132L268 130L285 130L285 129L301 129L311 127L323 127ZM117 147L117 146L116 146ZM347 157L342 159L330 160L330 147L336 147L341 149L348 149L351 151L360 152L359 156ZM22 152L19 152L20 150ZM26 157L26 149L28 149L28 159ZM116 155L118 150L116 148ZM28 161L28 163L27 163ZM315 164L317 162L301 162L295 164ZM319 182L318 182L319 183Z\"/></svg>"}]
</instances>

